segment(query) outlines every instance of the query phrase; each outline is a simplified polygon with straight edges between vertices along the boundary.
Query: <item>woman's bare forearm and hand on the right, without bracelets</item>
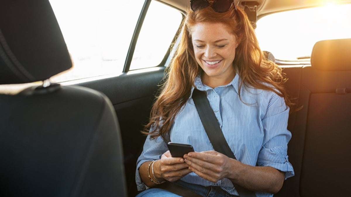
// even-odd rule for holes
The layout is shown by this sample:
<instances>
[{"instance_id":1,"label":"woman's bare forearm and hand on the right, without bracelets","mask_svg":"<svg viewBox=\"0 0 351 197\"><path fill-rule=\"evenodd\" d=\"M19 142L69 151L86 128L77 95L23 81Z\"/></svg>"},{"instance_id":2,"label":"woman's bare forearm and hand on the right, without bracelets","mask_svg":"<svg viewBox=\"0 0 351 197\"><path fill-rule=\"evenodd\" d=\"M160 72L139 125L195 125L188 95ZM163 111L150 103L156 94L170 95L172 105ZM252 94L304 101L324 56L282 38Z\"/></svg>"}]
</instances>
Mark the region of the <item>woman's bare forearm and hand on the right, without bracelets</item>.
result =
<instances>
[{"instance_id":1,"label":"woman's bare forearm and hand on the right, without bracelets","mask_svg":"<svg viewBox=\"0 0 351 197\"><path fill-rule=\"evenodd\" d=\"M184 158L192 172L208 181L229 178L251 191L277 193L285 177L285 172L275 168L246 165L213 150L189 152Z\"/></svg>"}]
</instances>

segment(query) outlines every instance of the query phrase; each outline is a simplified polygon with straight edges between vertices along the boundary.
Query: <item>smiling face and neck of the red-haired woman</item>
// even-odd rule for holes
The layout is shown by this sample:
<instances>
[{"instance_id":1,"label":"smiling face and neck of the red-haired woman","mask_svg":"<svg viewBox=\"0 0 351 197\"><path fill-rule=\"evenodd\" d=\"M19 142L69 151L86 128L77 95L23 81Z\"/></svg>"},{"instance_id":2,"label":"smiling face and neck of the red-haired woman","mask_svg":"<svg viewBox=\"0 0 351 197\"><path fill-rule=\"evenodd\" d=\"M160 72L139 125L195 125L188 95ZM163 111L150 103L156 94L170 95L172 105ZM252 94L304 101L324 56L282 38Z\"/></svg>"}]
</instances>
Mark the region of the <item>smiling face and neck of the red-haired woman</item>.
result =
<instances>
[{"instance_id":1,"label":"smiling face and neck of the red-haired woman","mask_svg":"<svg viewBox=\"0 0 351 197\"><path fill-rule=\"evenodd\" d=\"M201 79L212 88L230 83L235 76L233 60L239 43L223 23L201 22L191 29L196 61L204 70Z\"/></svg>"}]
</instances>

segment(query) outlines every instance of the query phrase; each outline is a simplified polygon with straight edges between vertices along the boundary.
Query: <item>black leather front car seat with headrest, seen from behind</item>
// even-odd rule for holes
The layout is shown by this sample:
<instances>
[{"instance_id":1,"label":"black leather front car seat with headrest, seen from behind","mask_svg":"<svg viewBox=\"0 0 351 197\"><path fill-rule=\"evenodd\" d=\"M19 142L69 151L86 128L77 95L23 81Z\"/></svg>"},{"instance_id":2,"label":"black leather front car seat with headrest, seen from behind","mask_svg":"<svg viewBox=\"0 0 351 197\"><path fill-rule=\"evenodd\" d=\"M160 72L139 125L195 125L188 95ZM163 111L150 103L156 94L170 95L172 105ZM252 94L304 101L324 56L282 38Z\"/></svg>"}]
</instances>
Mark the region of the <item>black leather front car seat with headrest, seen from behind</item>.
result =
<instances>
[{"instance_id":1,"label":"black leather front car seat with headrest, seen from behind","mask_svg":"<svg viewBox=\"0 0 351 197\"><path fill-rule=\"evenodd\" d=\"M0 1L0 196L127 196L120 130L98 91L51 84L72 62L47 0Z\"/></svg>"}]
</instances>

